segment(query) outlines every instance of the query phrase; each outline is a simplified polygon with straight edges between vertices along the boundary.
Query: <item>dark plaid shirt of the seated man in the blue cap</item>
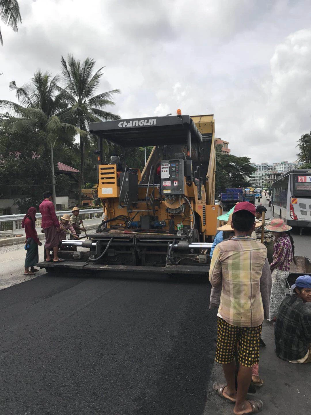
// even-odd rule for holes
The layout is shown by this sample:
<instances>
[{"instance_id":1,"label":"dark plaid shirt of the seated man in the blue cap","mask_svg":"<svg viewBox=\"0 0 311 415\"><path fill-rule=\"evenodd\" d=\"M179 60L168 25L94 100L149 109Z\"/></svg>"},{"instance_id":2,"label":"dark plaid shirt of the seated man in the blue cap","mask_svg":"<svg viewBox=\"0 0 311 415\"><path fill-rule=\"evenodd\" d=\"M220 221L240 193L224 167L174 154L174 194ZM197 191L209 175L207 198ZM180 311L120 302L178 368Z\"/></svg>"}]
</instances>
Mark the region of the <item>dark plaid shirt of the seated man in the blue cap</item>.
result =
<instances>
[{"instance_id":1,"label":"dark plaid shirt of the seated man in the blue cap","mask_svg":"<svg viewBox=\"0 0 311 415\"><path fill-rule=\"evenodd\" d=\"M275 349L284 360L302 359L311 343L311 309L301 298L286 297L275 323Z\"/></svg>"}]
</instances>

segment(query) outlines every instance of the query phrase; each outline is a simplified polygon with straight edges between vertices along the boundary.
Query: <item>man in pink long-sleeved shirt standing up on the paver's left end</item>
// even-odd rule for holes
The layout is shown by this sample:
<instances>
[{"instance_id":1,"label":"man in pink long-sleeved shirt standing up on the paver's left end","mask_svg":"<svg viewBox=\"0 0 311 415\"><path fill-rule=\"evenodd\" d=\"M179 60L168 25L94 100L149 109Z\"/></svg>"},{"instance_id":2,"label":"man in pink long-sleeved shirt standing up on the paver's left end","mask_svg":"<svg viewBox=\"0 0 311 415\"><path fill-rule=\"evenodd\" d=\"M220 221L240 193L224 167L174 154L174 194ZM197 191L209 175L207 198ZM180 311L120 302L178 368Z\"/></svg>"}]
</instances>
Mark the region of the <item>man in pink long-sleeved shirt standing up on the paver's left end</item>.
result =
<instances>
[{"instance_id":1,"label":"man in pink long-sleeved shirt standing up on the paver's left end","mask_svg":"<svg viewBox=\"0 0 311 415\"><path fill-rule=\"evenodd\" d=\"M46 262L51 262L50 251L53 249L53 262L63 262L63 259L58 258L58 248L61 244L61 233L59 222L55 213L54 205L51 202L52 193L44 192L44 200L39 206L40 213L42 215L41 226L45 234L45 250L46 250Z\"/></svg>"}]
</instances>

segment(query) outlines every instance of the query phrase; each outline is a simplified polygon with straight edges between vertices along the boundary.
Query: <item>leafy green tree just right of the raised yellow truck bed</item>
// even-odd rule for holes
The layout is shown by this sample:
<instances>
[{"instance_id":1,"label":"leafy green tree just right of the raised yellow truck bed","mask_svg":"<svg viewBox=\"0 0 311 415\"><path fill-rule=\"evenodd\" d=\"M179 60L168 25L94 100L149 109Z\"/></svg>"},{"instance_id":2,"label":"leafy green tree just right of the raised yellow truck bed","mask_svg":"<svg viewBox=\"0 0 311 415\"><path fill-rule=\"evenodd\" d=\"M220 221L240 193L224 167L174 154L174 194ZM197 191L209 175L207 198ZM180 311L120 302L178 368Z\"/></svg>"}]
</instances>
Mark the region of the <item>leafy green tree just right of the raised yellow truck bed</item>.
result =
<instances>
[{"instance_id":1,"label":"leafy green tree just right of the raised yellow truck bed","mask_svg":"<svg viewBox=\"0 0 311 415\"><path fill-rule=\"evenodd\" d=\"M221 144L216 146L216 195L225 188L250 186L246 180L256 168L250 165L249 157L223 154Z\"/></svg>"}]
</instances>

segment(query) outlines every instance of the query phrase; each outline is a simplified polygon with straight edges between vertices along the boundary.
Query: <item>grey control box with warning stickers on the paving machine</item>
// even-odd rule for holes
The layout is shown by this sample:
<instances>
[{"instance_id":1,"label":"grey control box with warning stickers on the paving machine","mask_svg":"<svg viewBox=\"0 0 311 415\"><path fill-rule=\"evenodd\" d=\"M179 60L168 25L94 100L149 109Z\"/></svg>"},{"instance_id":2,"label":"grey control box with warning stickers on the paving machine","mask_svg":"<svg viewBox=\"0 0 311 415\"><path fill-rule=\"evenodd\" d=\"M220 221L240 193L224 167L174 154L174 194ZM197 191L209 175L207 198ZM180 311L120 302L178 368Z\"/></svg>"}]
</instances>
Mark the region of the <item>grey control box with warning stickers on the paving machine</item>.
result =
<instances>
[{"instance_id":1,"label":"grey control box with warning stickers on the paving machine","mask_svg":"<svg viewBox=\"0 0 311 415\"><path fill-rule=\"evenodd\" d=\"M161 194L184 195L185 194L184 160L161 161Z\"/></svg>"}]
</instances>

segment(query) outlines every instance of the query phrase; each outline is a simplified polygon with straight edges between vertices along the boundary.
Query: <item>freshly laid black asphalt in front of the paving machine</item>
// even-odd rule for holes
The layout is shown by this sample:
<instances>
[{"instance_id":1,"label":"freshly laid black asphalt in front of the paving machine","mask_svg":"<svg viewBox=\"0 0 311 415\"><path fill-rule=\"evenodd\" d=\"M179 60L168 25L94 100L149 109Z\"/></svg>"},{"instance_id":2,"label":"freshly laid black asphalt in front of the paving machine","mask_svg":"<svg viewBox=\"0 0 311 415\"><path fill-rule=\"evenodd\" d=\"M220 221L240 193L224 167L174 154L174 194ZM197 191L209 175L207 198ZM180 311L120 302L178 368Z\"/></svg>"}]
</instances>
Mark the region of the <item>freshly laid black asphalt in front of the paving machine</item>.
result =
<instances>
[{"instance_id":1,"label":"freshly laid black asphalt in front of the paving machine","mask_svg":"<svg viewBox=\"0 0 311 415\"><path fill-rule=\"evenodd\" d=\"M45 274L0 291L0 415L199 415L210 286Z\"/></svg>"}]
</instances>

